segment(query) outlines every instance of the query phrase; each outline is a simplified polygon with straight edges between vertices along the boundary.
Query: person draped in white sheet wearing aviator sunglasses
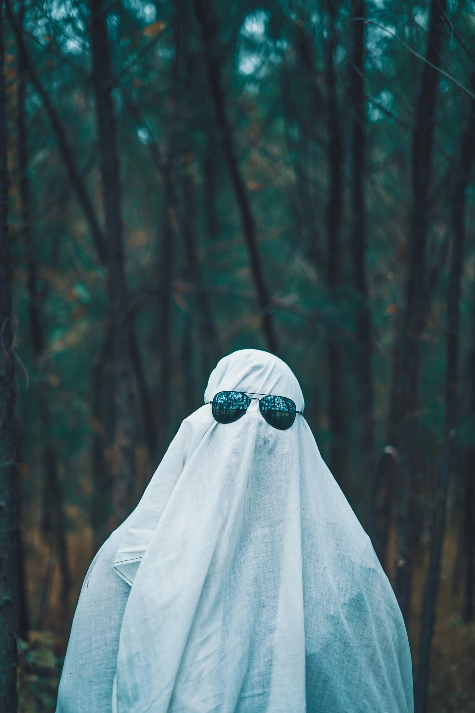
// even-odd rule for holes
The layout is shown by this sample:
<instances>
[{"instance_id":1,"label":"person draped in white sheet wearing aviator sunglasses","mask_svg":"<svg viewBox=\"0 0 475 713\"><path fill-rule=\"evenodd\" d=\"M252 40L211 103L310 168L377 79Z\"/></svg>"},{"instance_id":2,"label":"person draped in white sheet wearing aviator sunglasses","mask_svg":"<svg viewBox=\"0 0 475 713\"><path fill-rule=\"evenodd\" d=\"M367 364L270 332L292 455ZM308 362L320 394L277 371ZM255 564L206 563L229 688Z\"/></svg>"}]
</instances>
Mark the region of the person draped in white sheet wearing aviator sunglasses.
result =
<instances>
[{"instance_id":1,"label":"person draped in white sheet wearing aviator sunglasses","mask_svg":"<svg viewBox=\"0 0 475 713\"><path fill-rule=\"evenodd\" d=\"M234 352L204 401L90 565L57 713L412 713L400 609L291 369Z\"/></svg>"}]
</instances>

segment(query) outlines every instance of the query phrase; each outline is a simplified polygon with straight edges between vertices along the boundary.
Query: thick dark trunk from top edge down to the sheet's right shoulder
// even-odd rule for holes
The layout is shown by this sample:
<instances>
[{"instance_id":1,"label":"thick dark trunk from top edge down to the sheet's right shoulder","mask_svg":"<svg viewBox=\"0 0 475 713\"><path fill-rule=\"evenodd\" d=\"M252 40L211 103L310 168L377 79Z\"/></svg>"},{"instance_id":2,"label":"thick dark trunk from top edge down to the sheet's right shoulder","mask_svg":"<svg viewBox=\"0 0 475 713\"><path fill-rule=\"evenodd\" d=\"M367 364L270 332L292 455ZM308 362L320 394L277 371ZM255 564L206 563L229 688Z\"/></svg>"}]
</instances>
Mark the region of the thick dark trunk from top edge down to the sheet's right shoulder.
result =
<instances>
[{"instance_id":1,"label":"thick dark trunk from top edge down to the sheet's right shoulder","mask_svg":"<svg viewBox=\"0 0 475 713\"><path fill-rule=\"evenodd\" d=\"M420 339L427 295L428 192L434 143L434 113L439 84L439 53L446 0L431 0L429 32L412 133L412 211L409 219L409 270L399 334L400 380L397 417L397 560L395 593L404 620L409 616L414 522L412 489L417 476Z\"/></svg>"}]
</instances>

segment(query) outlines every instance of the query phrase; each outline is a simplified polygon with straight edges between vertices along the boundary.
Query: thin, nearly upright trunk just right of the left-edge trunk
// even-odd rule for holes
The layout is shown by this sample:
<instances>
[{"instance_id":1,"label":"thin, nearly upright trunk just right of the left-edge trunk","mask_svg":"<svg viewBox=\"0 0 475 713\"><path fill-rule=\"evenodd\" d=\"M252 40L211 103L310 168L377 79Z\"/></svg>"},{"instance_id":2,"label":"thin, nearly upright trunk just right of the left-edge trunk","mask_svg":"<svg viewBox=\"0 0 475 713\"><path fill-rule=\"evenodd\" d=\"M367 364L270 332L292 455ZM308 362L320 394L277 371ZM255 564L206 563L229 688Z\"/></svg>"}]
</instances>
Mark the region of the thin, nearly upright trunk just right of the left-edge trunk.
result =
<instances>
[{"instance_id":1,"label":"thin, nearly upright trunk just right of the left-edge trunk","mask_svg":"<svg viewBox=\"0 0 475 713\"><path fill-rule=\"evenodd\" d=\"M21 209L21 233L26 256L26 282L28 289L28 311L31 349L33 352L33 368L38 376L38 411L41 420L43 441L43 530L47 538L53 537L61 572L61 603L63 620L68 620L68 602L71 592L71 573L68 563L68 546L66 542L66 527L64 520L63 494L59 481L58 458L56 448L51 439L51 417L48 407L48 394L41 370L38 369L38 359L43 353L44 337L41 324L41 302L43 294L38 289L40 270L37 260L37 246L33 240L33 215L31 210L31 188L28 178L28 133L26 130L25 100L26 75L28 60L23 43L18 43L19 53L19 93L17 108L18 141L17 155L19 166L19 198ZM52 526L54 520L54 527ZM48 597L49 592L45 593Z\"/></svg>"}]
</instances>

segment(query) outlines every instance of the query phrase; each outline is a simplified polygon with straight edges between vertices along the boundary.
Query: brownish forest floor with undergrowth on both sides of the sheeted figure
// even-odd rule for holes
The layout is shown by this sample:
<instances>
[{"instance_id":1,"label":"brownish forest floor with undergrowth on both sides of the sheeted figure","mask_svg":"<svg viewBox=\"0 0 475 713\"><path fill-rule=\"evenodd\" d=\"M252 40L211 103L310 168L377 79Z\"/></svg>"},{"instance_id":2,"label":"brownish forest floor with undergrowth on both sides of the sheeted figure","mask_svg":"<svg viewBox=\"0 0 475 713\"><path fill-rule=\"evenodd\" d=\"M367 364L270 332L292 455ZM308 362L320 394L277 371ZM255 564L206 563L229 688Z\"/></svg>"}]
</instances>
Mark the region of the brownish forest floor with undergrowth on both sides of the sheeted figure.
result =
<instances>
[{"instance_id":1,"label":"brownish forest floor with undergrowth on both sides of the sheeted figure","mask_svg":"<svg viewBox=\"0 0 475 713\"><path fill-rule=\"evenodd\" d=\"M71 515L74 513L68 513ZM79 524L79 523L78 523ZM82 528L68 534L70 566L73 573L71 601L78 600L80 586L90 563L92 533ZM41 541L38 530L26 533L28 550L28 590L33 615L40 593L33 588L43 582L48 548ZM462 597L454 595L453 573L456 561L456 533L449 531L445 538L442 573L437 606L437 623L432 647L429 713L475 712L475 622L465 625L461 618ZM422 558L414 571L412 617L409 639L414 664L417 656L422 587L427 558ZM31 631L28 642L19 642L19 713L53 713L61 665L67 645L68 631L60 603L60 578L56 568L46 618L46 631ZM68 616L68 622L70 617ZM33 617L34 620L34 617Z\"/></svg>"}]
</instances>

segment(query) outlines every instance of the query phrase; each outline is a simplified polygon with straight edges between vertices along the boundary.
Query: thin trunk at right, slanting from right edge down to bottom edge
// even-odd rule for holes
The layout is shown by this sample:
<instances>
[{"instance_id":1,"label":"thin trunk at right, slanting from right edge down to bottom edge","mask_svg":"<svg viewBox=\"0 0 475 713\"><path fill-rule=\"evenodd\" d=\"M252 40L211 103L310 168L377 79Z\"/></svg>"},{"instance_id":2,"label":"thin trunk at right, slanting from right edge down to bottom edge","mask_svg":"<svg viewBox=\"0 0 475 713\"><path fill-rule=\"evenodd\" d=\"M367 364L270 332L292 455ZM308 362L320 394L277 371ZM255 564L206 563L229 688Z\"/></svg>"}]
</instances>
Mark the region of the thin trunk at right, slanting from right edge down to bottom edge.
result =
<instances>
[{"instance_id":1,"label":"thin trunk at right, slanting from right edge down to bottom edge","mask_svg":"<svg viewBox=\"0 0 475 713\"><path fill-rule=\"evenodd\" d=\"M475 88L475 72L471 78ZM432 636L434 635L435 608L439 590L439 571L444 543L445 513L447 507L447 487L455 452L457 424L457 381L459 379L459 322L460 322L460 282L464 265L465 243L465 202L471 165L475 153L475 101L471 101L464 140L462 141L459 169L456 171L454 193L452 195L453 240L447 292L447 373L445 385L444 446L442 466L439 473L434 506L434 524L430 550L429 573L424 586L422 602L421 638L417 682L414 698L416 713L427 710L427 689L429 686L429 663Z\"/></svg>"}]
</instances>

